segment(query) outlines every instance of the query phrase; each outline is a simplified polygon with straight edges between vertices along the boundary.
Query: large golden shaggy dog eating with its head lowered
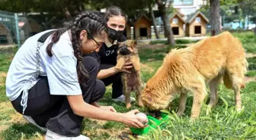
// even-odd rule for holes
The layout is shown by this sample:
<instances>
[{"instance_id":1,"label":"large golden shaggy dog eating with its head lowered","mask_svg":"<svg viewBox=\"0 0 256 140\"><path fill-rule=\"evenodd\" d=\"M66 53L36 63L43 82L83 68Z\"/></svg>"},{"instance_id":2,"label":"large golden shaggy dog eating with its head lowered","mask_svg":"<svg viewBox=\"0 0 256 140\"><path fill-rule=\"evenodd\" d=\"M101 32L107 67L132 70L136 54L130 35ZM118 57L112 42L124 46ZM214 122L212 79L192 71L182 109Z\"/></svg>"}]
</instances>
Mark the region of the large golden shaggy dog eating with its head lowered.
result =
<instances>
[{"instance_id":1,"label":"large golden shaggy dog eating with its head lowered","mask_svg":"<svg viewBox=\"0 0 256 140\"><path fill-rule=\"evenodd\" d=\"M221 79L235 92L235 106L242 109L240 89L245 87L248 62L242 43L229 32L212 36L181 49L172 49L163 64L146 83L142 102L149 110L162 110L180 94L178 115L184 113L187 92L194 96L190 118L200 115L206 97L206 84L210 86L210 107L218 102L217 87Z\"/></svg>"}]
</instances>

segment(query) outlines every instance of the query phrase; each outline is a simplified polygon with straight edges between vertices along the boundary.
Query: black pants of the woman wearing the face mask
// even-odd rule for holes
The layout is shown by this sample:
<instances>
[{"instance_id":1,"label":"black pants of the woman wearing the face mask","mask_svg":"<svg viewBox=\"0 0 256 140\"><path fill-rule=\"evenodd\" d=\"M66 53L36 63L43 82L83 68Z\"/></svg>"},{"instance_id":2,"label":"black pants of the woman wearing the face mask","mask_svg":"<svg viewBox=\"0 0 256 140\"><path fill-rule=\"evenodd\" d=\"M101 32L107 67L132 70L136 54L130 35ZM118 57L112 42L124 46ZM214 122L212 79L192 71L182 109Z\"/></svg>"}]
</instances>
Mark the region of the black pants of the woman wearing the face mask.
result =
<instances>
[{"instance_id":1,"label":"black pants of the woman wearing the face mask","mask_svg":"<svg viewBox=\"0 0 256 140\"><path fill-rule=\"evenodd\" d=\"M114 67L114 65L101 64L100 70L108 69L110 67ZM104 82L105 86L109 86L112 83L112 98L118 98L120 95L123 95L123 84L120 73L101 80Z\"/></svg>"}]
</instances>

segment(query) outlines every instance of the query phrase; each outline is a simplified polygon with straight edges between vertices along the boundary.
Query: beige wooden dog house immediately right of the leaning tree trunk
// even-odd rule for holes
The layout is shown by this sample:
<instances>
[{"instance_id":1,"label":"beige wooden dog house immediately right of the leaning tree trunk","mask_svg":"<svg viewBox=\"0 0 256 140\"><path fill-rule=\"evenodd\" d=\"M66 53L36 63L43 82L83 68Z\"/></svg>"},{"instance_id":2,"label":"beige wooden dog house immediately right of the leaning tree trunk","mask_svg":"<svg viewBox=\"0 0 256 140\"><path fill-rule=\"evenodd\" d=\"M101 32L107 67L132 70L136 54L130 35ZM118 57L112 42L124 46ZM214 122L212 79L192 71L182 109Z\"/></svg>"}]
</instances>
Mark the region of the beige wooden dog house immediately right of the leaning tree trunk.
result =
<instances>
[{"instance_id":1,"label":"beige wooden dog house immediately right of the leaning tree trunk","mask_svg":"<svg viewBox=\"0 0 256 140\"><path fill-rule=\"evenodd\" d=\"M174 37L182 37L185 36L184 33L184 25L185 21L178 13L174 13L170 15L170 24L172 32L174 33Z\"/></svg>"}]
</instances>

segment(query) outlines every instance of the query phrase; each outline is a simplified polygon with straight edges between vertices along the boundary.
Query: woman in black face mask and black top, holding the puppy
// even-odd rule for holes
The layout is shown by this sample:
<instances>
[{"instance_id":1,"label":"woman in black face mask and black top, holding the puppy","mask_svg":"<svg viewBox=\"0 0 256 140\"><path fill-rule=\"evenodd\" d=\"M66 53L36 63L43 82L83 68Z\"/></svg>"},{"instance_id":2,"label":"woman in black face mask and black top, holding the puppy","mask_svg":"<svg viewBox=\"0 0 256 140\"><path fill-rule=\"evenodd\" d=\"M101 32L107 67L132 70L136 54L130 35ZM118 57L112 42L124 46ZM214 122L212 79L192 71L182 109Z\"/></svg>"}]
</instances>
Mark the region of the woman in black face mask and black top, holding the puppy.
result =
<instances>
[{"instance_id":1,"label":"woman in black face mask and black top, holding the puppy","mask_svg":"<svg viewBox=\"0 0 256 140\"><path fill-rule=\"evenodd\" d=\"M116 70L115 66L117 64L117 42L126 41L125 36L123 36L123 30L126 27L127 17L120 8L111 6L107 8L104 19L107 21L109 36L100 51L90 55L96 58L100 64L97 78L101 79L105 86L112 83L112 98L114 101L125 102L120 72L130 73L129 69L133 66L131 63L127 63L122 70ZM130 101L135 101L135 98L130 97Z\"/></svg>"}]
</instances>

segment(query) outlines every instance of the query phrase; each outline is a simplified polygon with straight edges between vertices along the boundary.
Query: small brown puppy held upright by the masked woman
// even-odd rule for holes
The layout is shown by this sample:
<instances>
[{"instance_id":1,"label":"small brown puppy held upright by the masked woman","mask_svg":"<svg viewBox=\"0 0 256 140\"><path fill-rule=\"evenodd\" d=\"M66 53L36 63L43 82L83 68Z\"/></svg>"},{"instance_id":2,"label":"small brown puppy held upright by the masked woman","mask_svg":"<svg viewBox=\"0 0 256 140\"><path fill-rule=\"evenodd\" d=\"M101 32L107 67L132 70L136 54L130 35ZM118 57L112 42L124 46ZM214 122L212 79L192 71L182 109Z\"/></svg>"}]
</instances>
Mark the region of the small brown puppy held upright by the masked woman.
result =
<instances>
[{"instance_id":1,"label":"small brown puppy held upright by the masked woman","mask_svg":"<svg viewBox=\"0 0 256 140\"><path fill-rule=\"evenodd\" d=\"M120 70L126 62L132 62L133 68L130 69L131 73L122 73L123 93L126 98L126 108L130 108L130 93L136 92L136 100L139 106L142 106L140 93L142 91L142 82L140 77L140 62L138 49L136 48L137 42L135 40L126 40L126 42L119 42L117 50L117 65L116 69Z\"/></svg>"}]
</instances>

